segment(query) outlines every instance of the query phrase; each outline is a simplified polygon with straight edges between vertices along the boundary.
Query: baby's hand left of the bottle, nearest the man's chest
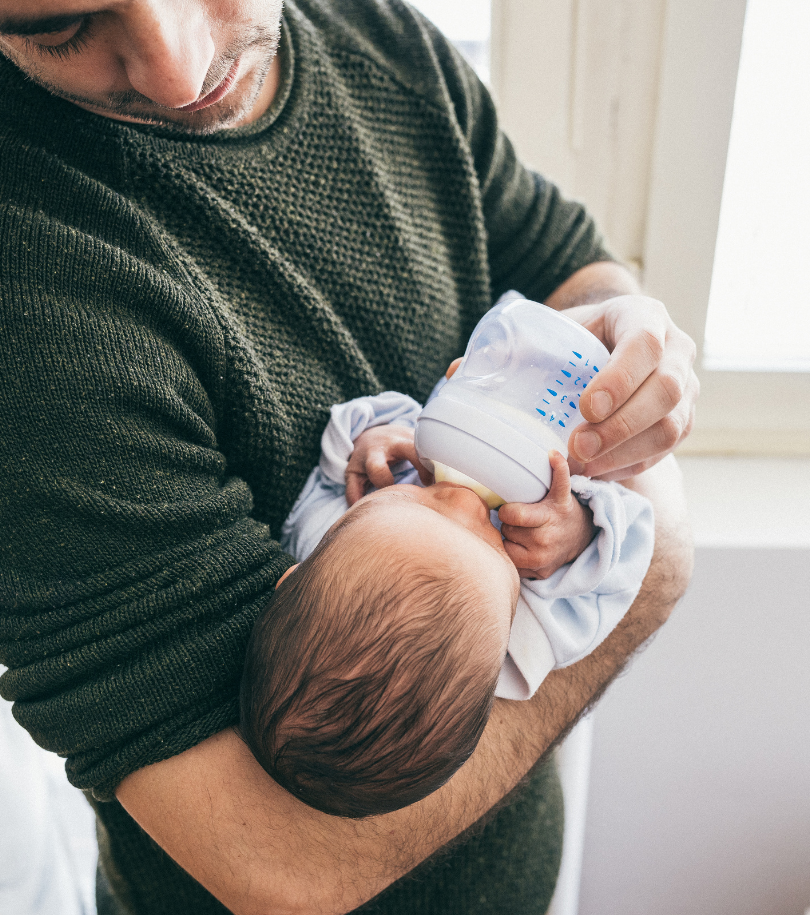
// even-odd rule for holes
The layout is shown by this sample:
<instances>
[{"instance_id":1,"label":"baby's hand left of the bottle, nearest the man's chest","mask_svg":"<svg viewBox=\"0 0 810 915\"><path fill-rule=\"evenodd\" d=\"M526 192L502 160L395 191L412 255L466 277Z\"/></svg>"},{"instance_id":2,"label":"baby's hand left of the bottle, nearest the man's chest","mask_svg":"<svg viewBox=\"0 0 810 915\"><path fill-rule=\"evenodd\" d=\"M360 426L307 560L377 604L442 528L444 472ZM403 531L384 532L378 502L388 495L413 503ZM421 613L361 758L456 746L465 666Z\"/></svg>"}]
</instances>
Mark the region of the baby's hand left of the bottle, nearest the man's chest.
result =
<instances>
[{"instance_id":1,"label":"baby's hand left of the bottle, nearest the man's chest","mask_svg":"<svg viewBox=\"0 0 810 915\"><path fill-rule=\"evenodd\" d=\"M420 463L413 445L413 429L405 426L372 426L354 441L354 451L346 467L346 501L354 505L375 486L392 486L391 465L410 461L419 479L428 486L433 476Z\"/></svg>"}]
</instances>

